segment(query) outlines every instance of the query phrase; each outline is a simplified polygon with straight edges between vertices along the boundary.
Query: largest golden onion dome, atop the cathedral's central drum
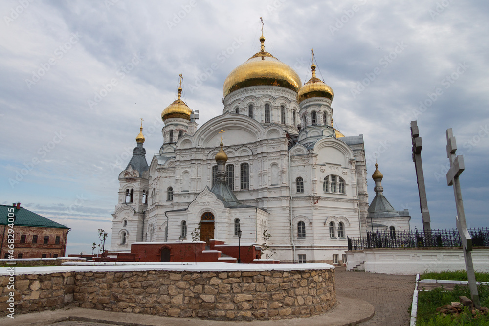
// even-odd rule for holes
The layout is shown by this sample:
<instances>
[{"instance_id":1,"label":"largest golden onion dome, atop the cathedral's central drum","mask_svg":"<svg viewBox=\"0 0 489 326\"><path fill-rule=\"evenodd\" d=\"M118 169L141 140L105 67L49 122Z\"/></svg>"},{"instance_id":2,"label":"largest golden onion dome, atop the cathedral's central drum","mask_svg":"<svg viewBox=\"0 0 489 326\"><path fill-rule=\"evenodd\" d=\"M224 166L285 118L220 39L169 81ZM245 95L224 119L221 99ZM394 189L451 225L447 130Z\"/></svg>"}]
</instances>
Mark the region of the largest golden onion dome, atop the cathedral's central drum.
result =
<instances>
[{"instance_id":1,"label":"largest golden onion dome, atop the cathedral's central drum","mask_svg":"<svg viewBox=\"0 0 489 326\"><path fill-rule=\"evenodd\" d=\"M265 38L260 37L260 52L236 67L224 81L223 94L250 86L281 86L293 91L302 86L299 75L270 53L265 52Z\"/></svg>"}]
</instances>

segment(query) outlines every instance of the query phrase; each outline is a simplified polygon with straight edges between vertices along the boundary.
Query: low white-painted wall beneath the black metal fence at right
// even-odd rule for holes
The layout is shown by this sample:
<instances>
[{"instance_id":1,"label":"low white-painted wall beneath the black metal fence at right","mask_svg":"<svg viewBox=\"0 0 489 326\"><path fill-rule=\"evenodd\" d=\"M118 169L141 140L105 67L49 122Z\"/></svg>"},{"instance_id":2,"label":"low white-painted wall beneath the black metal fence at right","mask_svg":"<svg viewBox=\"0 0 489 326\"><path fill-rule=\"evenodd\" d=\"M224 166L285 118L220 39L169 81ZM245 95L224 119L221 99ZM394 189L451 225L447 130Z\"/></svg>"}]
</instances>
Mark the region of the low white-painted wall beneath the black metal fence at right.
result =
<instances>
[{"instance_id":1,"label":"low white-painted wall beneath the black metal fence at right","mask_svg":"<svg viewBox=\"0 0 489 326\"><path fill-rule=\"evenodd\" d=\"M396 248L347 251L347 270L372 273L416 275L425 271L465 269L464 253L458 248ZM362 265L359 263L364 261ZM489 249L472 251L474 269L489 272Z\"/></svg>"}]
</instances>

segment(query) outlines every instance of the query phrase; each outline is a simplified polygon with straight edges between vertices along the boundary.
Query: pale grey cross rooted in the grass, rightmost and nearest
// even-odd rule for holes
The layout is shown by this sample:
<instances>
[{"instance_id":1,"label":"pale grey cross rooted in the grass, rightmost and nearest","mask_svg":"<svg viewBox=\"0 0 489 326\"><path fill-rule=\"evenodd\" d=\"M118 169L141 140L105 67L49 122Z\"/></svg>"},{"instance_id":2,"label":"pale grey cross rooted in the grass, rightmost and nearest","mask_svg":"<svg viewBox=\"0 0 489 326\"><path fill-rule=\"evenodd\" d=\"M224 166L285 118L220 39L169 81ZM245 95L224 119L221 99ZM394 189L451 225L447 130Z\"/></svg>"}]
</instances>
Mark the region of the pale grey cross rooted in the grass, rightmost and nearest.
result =
<instances>
[{"instance_id":1,"label":"pale grey cross rooted in the grass, rightmost and nearest","mask_svg":"<svg viewBox=\"0 0 489 326\"><path fill-rule=\"evenodd\" d=\"M457 151L457 142L453 136L452 129L446 130L446 156L450 160L450 170L446 173L446 183L448 186L453 186L455 194L455 204L457 206L457 230L462 239L465 267L467 270L468 287L470 288L470 296L472 302L477 309L481 308L479 302L479 293L477 291L477 283L475 282L474 264L472 263L472 237L468 233L467 223L465 221L464 202L462 201L462 190L460 189L459 175L465 169L464 156L455 155Z\"/></svg>"}]
</instances>

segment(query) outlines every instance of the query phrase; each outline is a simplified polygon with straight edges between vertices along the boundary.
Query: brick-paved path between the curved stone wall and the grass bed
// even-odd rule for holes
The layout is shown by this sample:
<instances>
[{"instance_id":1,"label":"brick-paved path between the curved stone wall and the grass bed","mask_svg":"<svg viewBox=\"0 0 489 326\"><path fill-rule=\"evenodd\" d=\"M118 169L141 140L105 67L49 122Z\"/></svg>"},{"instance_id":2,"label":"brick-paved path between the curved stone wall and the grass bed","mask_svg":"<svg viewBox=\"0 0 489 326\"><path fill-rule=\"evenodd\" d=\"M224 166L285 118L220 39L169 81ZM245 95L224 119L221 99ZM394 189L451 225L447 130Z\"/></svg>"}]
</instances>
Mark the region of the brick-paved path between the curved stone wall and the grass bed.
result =
<instances>
[{"instance_id":1,"label":"brick-paved path between the curved stone wall and the grass bed","mask_svg":"<svg viewBox=\"0 0 489 326\"><path fill-rule=\"evenodd\" d=\"M416 276L347 272L344 267L336 267L334 274L336 294L362 299L375 307L374 317L358 325L409 325Z\"/></svg>"}]
</instances>

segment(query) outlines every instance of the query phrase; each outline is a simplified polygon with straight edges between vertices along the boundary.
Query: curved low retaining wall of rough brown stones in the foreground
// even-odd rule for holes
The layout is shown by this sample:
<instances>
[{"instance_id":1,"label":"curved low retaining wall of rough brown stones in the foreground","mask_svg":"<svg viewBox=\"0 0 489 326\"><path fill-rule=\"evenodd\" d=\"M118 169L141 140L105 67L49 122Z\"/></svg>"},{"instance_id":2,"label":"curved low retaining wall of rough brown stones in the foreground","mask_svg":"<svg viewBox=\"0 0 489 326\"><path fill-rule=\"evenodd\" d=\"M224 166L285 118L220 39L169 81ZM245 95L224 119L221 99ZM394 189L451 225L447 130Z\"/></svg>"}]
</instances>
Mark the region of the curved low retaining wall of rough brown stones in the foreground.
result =
<instances>
[{"instance_id":1,"label":"curved low retaining wall of rough brown stones in the foreground","mask_svg":"<svg viewBox=\"0 0 489 326\"><path fill-rule=\"evenodd\" d=\"M0 277L6 311L8 276ZM71 304L107 311L265 320L309 317L336 302L334 270L123 271L15 276L16 314Z\"/></svg>"}]
</instances>

